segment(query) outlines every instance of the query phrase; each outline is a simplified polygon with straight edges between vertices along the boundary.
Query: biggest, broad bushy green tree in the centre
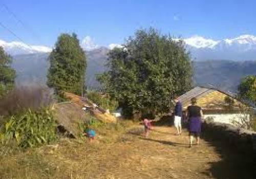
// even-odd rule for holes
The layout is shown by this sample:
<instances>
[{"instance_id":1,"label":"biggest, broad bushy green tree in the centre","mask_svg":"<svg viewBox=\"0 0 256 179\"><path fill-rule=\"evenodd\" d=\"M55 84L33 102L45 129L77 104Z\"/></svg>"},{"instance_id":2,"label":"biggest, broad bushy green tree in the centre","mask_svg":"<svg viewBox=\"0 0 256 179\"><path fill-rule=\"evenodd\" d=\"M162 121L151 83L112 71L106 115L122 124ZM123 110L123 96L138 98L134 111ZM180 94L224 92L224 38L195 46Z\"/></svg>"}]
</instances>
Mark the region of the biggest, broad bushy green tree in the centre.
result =
<instances>
[{"instance_id":1,"label":"biggest, broad bushy green tree in the centre","mask_svg":"<svg viewBox=\"0 0 256 179\"><path fill-rule=\"evenodd\" d=\"M126 117L167 112L170 98L191 87L192 68L183 41L155 29L138 30L123 48L108 54L108 72L98 76Z\"/></svg>"}]
</instances>

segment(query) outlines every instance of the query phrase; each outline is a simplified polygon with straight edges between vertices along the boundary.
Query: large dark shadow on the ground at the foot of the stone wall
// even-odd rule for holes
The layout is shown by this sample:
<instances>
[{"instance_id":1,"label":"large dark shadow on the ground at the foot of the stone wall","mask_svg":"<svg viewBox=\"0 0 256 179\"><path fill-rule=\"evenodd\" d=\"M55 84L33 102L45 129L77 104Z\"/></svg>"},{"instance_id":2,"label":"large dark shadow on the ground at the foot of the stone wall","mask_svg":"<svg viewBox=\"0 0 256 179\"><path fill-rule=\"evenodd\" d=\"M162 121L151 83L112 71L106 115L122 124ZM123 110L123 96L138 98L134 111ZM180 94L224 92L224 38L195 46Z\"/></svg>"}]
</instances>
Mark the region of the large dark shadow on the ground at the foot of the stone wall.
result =
<instances>
[{"instance_id":1,"label":"large dark shadow on the ground at the foot of the stone wall","mask_svg":"<svg viewBox=\"0 0 256 179\"><path fill-rule=\"evenodd\" d=\"M227 141L216 139L204 132L202 132L202 139L214 146L222 159L218 162L209 162L209 171L204 174L214 178L256 178L252 155L241 153L229 146Z\"/></svg>"}]
</instances>

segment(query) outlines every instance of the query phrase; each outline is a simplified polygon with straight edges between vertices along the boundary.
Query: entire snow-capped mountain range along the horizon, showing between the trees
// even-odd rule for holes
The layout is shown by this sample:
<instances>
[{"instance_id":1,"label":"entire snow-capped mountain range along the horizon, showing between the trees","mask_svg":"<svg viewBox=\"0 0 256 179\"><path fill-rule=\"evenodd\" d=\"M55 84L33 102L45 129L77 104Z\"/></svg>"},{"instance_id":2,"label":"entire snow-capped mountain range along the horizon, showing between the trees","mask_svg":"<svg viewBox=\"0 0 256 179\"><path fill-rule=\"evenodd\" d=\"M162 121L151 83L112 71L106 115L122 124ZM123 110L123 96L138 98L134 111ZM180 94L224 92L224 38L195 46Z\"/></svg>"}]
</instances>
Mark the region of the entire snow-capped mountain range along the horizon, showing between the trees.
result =
<instances>
[{"instance_id":1,"label":"entire snow-capped mountain range along the horizon, showing between the trees","mask_svg":"<svg viewBox=\"0 0 256 179\"><path fill-rule=\"evenodd\" d=\"M241 35L235 38L221 40L192 36L183 40L186 43L187 50L191 53L191 58L195 60L256 60L256 36L254 35ZM46 53L52 50L49 47L30 46L19 41L6 42L0 40L0 46L10 55ZM101 46L95 44L90 36L86 36L81 40L81 47L86 51L91 51ZM108 48L113 49L114 47L121 47L121 45L111 43Z\"/></svg>"}]
</instances>

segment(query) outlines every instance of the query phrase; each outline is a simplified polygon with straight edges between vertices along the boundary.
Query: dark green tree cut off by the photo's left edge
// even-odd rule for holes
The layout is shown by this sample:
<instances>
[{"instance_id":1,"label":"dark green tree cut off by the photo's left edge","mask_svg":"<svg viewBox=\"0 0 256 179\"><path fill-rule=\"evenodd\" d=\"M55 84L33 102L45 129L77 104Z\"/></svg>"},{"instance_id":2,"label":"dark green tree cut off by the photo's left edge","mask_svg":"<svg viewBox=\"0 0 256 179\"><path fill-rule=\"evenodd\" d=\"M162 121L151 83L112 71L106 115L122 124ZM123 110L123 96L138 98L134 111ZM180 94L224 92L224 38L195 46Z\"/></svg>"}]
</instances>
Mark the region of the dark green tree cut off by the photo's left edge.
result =
<instances>
[{"instance_id":1,"label":"dark green tree cut off by the photo's left edge","mask_svg":"<svg viewBox=\"0 0 256 179\"><path fill-rule=\"evenodd\" d=\"M11 56L0 46L0 98L14 86L15 70L11 68Z\"/></svg>"}]
</instances>

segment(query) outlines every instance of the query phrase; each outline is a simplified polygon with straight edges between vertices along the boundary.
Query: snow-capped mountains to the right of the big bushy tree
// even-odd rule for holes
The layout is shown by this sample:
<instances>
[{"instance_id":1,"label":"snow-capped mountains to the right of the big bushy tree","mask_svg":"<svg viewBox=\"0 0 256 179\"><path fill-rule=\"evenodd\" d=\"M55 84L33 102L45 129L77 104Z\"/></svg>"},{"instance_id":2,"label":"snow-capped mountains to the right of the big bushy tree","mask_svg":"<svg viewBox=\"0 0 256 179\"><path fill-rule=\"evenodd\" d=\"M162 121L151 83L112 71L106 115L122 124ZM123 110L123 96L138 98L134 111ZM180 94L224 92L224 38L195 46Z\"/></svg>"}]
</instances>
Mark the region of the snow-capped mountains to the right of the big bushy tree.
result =
<instances>
[{"instance_id":1,"label":"snow-capped mountains to the right of the big bushy tree","mask_svg":"<svg viewBox=\"0 0 256 179\"><path fill-rule=\"evenodd\" d=\"M222 40L193 36L184 41L191 57L196 60L256 60L256 36L253 35Z\"/></svg>"}]
</instances>

